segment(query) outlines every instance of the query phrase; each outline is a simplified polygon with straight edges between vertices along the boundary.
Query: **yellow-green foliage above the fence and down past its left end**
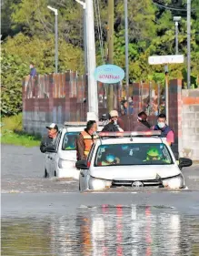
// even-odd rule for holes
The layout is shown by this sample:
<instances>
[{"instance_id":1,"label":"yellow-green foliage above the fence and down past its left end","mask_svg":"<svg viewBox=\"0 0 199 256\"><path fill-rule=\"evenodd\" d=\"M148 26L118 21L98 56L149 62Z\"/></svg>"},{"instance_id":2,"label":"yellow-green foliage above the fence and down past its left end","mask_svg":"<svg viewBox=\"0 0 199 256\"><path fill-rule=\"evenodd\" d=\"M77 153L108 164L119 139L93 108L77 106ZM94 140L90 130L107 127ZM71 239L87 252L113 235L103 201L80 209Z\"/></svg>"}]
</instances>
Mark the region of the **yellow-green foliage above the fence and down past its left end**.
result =
<instances>
[{"instance_id":1,"label":"yellow-green foliage above the fence and down past its left end","mask_svg":"<svg viewBox=\"0 0 199 256\"><path fill-rule=\"evenodd\" d=\"M2 109L3 116L22 110L22 80L29 74L33 61L39 74L55 71L54 38L48 40L18 34L8 38L2 53ZM78 70L83 73L83 56L78 47L59 41L59 70Z\"/></svg>"}]
</instances>

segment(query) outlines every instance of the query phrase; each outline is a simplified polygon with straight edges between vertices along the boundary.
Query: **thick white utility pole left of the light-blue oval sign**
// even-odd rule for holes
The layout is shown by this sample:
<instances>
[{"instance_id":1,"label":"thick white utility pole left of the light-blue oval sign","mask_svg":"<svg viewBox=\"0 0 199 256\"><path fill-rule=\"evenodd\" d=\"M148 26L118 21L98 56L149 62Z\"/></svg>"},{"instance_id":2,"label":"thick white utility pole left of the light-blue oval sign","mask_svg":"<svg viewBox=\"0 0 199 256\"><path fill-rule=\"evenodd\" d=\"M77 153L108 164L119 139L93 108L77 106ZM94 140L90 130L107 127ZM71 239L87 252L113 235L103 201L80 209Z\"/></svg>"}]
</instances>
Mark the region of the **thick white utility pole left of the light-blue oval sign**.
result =
<instances>
[{"instance_id":1,"label":"thick white utility pole left of the light-blue oval sign","mask_svg":"<svg viewBox=\"0 0 199 256\"><path fill-rule=\"evenodd\" d=\"M93 0L85 0L86 14L86 45L87 45L87 68L88 68L88 111L95 113L98 120L98 93L94 72L95 60L95 26Z\"/></svg>"}]
</instances>

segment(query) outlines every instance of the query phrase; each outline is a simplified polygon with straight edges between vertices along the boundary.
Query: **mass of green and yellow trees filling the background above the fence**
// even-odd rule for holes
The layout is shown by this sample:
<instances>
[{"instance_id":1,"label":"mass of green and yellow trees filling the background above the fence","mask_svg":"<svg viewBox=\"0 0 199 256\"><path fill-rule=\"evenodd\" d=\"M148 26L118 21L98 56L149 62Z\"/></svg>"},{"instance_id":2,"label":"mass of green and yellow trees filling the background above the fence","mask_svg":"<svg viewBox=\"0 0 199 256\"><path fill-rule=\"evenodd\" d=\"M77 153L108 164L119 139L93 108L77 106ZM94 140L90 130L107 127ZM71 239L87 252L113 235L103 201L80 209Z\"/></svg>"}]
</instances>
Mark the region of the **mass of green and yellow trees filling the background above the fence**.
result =
<instances>
[{"instance_id":1,"label":"mass of green and yellow trees filling the background above the fence","mask_svg":"<svg viewBox=\"0 0 199 256\"><path fill-rule=\"evenodd\" d=\"M155 5L159 3L159 5ZM107 51L107 0L94 1L100 8L104 52ZM55 15L47 9L58 9L59 70L84 72L83 61L83 8L74 0L4 0L3 25L3 90L21 90L21 78L28 73L29 61L34 61L39 74L55 70ZM173 7L173 8L170 8ZM199 0L192 0L191 67L192 83L199 75ZM95 13L95 41L97 65L102 64ZM181 15L179 23L179 53L187 55L186 0L128 0L129 71L134 81L160 79L164 67L149 66L148 56L174 54L174 15ZM7 58L7 60L6 60ZM13 76L7 66L13 63ZM114 64L125 67L124 2L114 1ZM17 67L24 71L17 71ZM186 63L170 65L170 77L186 81ZM162 79L162 78L161 78ZM161 80L160 79L160 80ZM20 80L20 83L19 83ZM9 84L10 83L10 84ZM15 84L15 85L14 85ZM13 88L12 88L13 87ZM11 95L4 92L4 102ZM17 94L16 93L16 94ZM14 97L14 96L12 96ZM21 109L15 101L7 113ZM7 103L6 103L7 104ZM13 109L13 110L12 110Z\"/></svg>"}]
</instances>

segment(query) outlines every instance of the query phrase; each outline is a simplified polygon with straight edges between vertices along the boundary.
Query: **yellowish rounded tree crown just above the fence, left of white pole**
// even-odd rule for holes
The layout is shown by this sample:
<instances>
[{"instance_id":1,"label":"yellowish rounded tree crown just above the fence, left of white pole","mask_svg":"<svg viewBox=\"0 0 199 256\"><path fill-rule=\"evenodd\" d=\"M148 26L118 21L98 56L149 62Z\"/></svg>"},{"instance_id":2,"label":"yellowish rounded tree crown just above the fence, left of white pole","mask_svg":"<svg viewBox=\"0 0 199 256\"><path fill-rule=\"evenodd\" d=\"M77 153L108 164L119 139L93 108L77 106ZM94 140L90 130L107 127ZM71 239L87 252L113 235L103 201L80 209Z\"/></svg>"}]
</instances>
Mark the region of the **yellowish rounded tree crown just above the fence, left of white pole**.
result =
<instances>
[{"instance_id":1,"label":"yellowish rounded tree crown just above the fence, left of white pole","mask_svg":"<svg viewBox=\"0 0 199 256\"><path fill-rule=\"evenodd\" d=\"M18 56L26 67L30 61L35 63L39 74L48 74L55 71L55 38L39 39L36 36L24 36L22 33L9 37L3 46L5 54ZM84 70L83 55L80 48L59 40L59 71Z\"/></svg>"}]
</instances>

